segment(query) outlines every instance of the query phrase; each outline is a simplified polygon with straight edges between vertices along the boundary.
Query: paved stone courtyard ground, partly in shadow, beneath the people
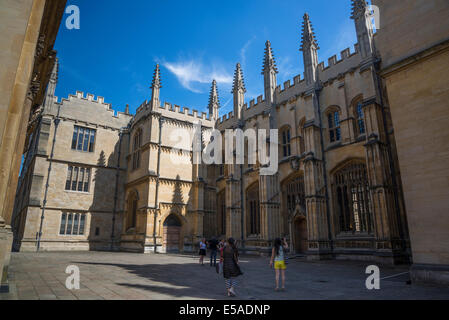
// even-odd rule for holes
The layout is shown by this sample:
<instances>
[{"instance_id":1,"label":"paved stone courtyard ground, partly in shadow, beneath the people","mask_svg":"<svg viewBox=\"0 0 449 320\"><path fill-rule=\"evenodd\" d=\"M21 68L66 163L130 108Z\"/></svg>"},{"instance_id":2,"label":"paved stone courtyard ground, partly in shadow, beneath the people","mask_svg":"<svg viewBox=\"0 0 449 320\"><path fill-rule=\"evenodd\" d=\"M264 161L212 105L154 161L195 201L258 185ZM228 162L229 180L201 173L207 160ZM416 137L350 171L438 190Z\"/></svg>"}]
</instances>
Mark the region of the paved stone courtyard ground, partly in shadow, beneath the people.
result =
<instances>
[{"instance_id":1,"label":"paved stone courtyard ground, partly in shadow, beneath the people","mask_svg":"<svg viewBox=\"0 0 449 320\"><path fill-rule=\"evenodd\" d=\"M290 259L287 290L274 291L268 258L242 257L239 299L449 299L449 288L407 285L407 275L381 280L380 290L365 288L369 263L309 262ZM79 290L65 287L68 265L80 269ZM380 266L381 278L406 267ZM229 299L223 277L200 266L198 257L110 252L13 253L6 299Z\"/></svg>"}]
</instances>

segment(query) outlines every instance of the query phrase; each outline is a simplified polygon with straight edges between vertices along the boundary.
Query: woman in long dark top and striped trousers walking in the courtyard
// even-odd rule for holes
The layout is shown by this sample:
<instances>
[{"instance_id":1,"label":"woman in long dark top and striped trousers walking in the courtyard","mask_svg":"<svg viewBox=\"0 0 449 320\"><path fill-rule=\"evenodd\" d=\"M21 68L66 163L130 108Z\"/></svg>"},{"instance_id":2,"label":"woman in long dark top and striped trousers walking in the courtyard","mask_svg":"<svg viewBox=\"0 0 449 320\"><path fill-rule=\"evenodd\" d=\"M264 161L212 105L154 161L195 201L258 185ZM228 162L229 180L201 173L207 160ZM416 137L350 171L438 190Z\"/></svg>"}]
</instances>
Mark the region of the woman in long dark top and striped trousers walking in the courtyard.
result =
<instances>
[{"instance_id":1,"label":"woman in long dark top and striped trousers walking in the courtyard","mask_svg":"<svg viewBox=\"0 0 449 320\"><path fill-rule=\"evenodd\" d=\"M225 278L228 297L235 297L236 278L242 275L239 267L239 251L235 240L229 238L223 249L223 277Z\"/></svg>"}]
</instances>

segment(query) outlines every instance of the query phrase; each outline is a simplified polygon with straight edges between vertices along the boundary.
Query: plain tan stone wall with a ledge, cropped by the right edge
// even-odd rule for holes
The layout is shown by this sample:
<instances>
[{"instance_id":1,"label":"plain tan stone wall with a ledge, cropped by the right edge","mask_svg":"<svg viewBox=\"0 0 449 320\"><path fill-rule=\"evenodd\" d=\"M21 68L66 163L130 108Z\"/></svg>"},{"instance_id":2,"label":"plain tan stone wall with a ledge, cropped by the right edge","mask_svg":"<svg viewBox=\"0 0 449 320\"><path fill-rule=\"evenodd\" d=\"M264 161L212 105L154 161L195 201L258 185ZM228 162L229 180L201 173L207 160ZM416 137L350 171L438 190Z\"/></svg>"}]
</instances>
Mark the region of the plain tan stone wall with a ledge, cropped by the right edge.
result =
<instances>
[{"instance_id":1,"label":"plain tan stone wall with a ledge, cropped by the right edge","mask_svg":"<svg viewBox=\"0 0 449 320\"><path fill-rule=\"evenodd\" d=\"M449 2L374 0L410 229L413 281L449 284Z\"/></svg>"}]
</instances>

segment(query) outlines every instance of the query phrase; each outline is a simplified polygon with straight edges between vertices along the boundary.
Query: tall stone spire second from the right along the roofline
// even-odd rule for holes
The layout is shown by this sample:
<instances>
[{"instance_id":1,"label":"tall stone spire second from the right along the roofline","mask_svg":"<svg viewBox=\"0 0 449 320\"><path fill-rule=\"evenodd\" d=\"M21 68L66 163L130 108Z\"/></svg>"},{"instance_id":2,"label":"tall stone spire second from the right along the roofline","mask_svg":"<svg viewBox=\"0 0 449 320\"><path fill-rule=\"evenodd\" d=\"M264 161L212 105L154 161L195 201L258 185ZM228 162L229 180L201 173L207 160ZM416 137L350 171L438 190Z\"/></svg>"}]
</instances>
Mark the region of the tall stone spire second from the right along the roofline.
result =
<instances>
[{"instance_id":1,"label":"tall stone spire second from the right along the roofline","mask_svg":"<svg viewBox=\"0 0 449 320\"><path fill-rule=\"evenodd\" d=\"M316 70L318 66L318 42L313 32L310 17L304 14L302 23L301 49L304 59L304 78L307 84L312 84L317 80Z\"/></svg>"}]
</instances>

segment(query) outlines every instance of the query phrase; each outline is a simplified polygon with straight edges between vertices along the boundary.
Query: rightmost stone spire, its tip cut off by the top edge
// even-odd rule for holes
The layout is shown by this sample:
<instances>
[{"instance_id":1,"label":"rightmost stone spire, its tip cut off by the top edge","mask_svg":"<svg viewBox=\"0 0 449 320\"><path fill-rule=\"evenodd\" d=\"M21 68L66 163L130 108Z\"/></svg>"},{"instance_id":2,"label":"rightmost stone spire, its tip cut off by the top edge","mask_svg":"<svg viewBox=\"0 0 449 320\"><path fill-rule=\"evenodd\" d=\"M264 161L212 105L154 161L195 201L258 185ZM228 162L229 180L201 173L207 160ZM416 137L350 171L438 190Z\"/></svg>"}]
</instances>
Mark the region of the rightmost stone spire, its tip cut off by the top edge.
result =
<instances>
[{"instance_id":1,"label":"rightmost stone spire, its tip cut off by the top edge","mask_svg":"<svg viewBox=\"0 0 449 320\"><path fill-rule=\"evenodd\" d=\"M351 0L351 19L354 20L357 42L362 59L371 57L375 53L373 39L373 24L371 12L366 0Z\"/></svg>"}]
</instances>

